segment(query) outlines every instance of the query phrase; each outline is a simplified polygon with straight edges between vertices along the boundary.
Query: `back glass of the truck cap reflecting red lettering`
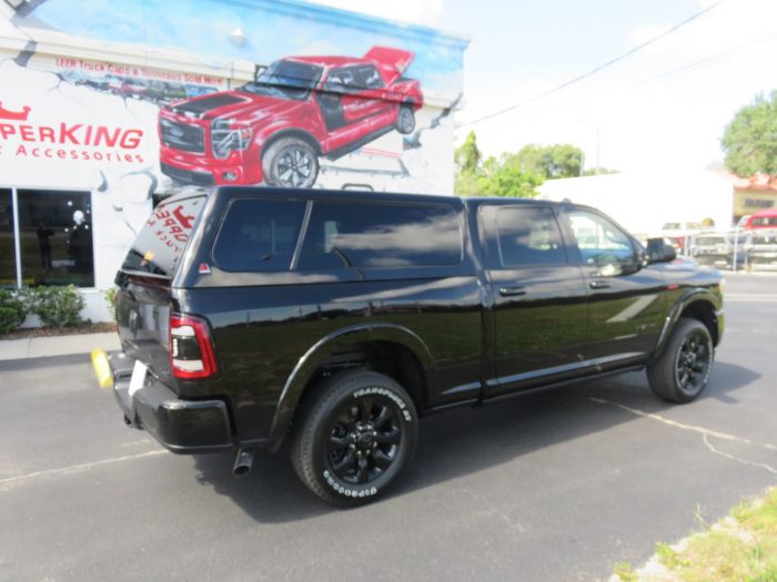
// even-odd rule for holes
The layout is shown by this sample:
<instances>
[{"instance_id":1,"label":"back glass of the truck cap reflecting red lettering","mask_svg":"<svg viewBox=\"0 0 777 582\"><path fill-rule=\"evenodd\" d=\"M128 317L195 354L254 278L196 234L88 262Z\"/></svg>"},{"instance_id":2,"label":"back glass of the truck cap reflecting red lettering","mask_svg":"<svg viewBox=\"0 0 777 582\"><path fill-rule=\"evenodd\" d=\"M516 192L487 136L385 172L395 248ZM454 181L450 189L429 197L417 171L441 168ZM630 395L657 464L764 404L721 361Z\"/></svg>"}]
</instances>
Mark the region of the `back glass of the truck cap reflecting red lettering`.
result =
<instances>
[{"instance_id":1,"label":"back glass of the truck cap reflecting red lettering","mask_svg":"<svg viewBox=\"0 0 777 582\"><path fill-rule=\"evenodd\" d=\"M172 278L204 204L204 196L162 202L145 221L121 268Z\"/></svg>"}]
</instances>

